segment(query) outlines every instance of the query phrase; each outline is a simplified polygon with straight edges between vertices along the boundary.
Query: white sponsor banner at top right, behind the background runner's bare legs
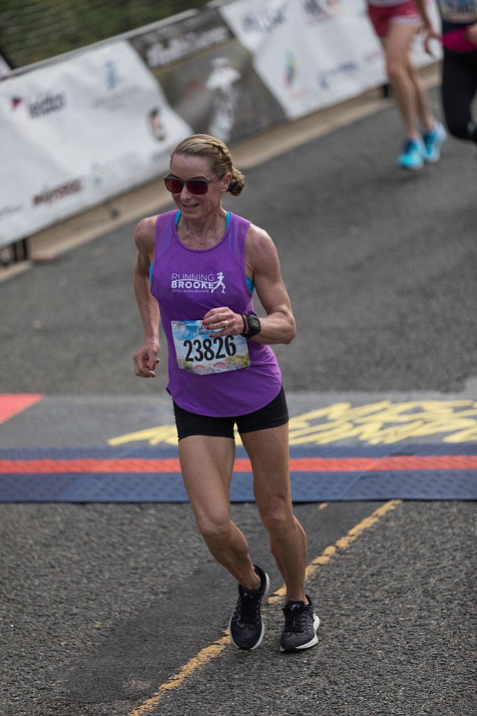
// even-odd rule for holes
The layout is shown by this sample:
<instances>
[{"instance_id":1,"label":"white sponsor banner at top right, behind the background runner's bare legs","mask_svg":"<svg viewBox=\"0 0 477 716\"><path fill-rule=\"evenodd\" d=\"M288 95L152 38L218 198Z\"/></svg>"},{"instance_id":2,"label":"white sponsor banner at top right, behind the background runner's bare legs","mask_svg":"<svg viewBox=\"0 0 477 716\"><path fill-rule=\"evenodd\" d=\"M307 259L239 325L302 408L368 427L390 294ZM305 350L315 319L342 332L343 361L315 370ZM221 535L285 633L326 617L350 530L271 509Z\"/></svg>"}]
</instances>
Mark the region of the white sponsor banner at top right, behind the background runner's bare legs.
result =
<instances>
[{"instance_id":1,"label":"white sponsor banner at top right, behind the background runner's bare legs","mask_svg":"<svg viewBox=\"0 0 477 716\"><path fill-rule=\"evenodd\" d=\"M239 0L220 13L288 119L387 82L363 0ZM414 57L432 61L420 41Z\"/></svg>"}]
</instances>

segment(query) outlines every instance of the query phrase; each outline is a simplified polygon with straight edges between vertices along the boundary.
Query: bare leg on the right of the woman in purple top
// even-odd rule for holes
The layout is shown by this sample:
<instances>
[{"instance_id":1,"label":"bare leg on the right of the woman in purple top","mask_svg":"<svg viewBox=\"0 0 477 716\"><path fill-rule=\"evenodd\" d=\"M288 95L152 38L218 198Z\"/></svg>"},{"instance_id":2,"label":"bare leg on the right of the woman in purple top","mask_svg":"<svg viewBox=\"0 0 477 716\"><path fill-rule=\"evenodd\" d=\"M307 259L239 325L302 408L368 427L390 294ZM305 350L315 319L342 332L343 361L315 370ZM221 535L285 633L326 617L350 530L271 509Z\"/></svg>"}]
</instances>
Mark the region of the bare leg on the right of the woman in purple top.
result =
<instances>
[{"instance_id":1,"label":"bare leg on the right of the woman in purple top","mask_svg":"<svg viewBox=\"0 0 477 716\"><path fill-rule=\"evenodd\" d=\"M305 596L306 535L293 514L288 425L242 435L252 462L255 500L270 535L270 549L287 588L286 601Z\"/></svg>"}]
</instances>

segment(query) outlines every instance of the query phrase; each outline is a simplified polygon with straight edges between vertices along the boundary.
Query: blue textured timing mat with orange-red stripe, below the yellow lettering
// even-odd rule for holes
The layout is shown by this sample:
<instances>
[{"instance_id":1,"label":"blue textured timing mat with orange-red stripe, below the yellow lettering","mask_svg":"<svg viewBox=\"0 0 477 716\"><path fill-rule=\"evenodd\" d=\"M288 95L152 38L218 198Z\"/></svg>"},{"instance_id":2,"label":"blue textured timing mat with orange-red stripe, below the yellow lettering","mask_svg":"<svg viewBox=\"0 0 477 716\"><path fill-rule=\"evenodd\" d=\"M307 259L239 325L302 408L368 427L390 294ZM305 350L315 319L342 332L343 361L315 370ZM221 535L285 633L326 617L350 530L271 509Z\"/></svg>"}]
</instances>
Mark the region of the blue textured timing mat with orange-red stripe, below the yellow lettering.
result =
<instances>
[{"instance_id":1,"label":"blue textured timing mat with orange-red stripe, below the yellow lettering","mask_svg":"<svg viewBox=\"0 0 477 716\"><path fill-rule=\"evenodd\" d=\"M232 502L253 502L252 474L241 465L243 448L237 458ZM319 469L307 469L315 463ZM292 449L290 467L295 502L477 498L476 443L451 449L408 445L405 455L382 447ZM0 450L0 468L2 502L187 501L177 450L171 448Z\"/></svg>"}]
</instances>

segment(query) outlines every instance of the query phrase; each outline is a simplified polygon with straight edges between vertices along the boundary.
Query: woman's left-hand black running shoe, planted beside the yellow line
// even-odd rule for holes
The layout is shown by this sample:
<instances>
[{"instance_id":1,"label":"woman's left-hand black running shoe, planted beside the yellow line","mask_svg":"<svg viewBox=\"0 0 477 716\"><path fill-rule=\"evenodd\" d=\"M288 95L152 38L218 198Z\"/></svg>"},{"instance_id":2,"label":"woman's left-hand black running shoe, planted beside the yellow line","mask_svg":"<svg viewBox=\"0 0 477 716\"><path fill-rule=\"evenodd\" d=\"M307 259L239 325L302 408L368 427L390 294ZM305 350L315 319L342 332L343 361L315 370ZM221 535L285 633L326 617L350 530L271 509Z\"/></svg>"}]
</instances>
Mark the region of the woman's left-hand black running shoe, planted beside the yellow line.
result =
<instances>
[{"instance_id":1,"label":"woman's left-hand black running shoe, planted beside the yellow line","mask_svg":"<svg viewBox=\"0 0 477 716\"><path fill-rule=\"evenodd\" d=\"M230 639L237 649L257 649L263 639L265 627L260 616L260 606L270 590L270 577L254 564L260 577L258 589L248 591L239 584L237 606L230 618Z\"/></svg>"}]
</instances>

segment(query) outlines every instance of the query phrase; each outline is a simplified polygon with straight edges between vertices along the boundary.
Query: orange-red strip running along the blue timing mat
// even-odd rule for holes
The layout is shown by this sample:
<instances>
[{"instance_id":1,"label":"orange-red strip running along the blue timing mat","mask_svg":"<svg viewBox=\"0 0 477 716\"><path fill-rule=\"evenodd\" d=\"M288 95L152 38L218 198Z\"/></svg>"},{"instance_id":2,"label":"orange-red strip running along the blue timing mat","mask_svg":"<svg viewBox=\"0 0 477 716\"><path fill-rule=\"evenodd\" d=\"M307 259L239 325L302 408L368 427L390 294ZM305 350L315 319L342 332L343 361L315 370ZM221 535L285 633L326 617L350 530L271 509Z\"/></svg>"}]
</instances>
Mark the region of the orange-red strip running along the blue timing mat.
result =
<instances>
[{"instance_id":1,"label":"orange-red strip running along the blue timing mat","mask_svg":"<svg viewBox=\"0 0 477 716\"><path fill-rule=\"evenodd\" d=\"M40 398L41 400L41 398ZM236 473L251 473L249 460L235 460ZM292 473L355 473L403 470L477 470L477 455L397 455L385 458L292 458ZM180 473L177 458L141 460L0 460L0 474Z\"/></svg>"}]
</instances>

